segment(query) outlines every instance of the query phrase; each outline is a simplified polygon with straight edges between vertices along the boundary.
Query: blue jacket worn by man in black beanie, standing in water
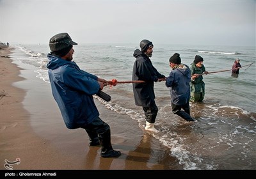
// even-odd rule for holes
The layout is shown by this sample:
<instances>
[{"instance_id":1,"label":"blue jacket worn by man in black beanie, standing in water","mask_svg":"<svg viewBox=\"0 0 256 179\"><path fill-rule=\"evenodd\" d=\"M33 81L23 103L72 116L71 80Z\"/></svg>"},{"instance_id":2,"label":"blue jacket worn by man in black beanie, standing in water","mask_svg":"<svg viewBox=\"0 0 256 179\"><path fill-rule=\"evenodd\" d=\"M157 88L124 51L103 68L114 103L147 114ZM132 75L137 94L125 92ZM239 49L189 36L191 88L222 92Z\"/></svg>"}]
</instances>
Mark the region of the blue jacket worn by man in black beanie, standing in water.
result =
<instances>
[{"instance_id":1,"label":"blue jacket worn by man in black beanie, standing in water","mask_svg":"<svg viewBox=\"0 0 256 179\"><path fill-rule=\"evenodd\" d=\"M172 104L184 105L189 102L191 70L187 65L177 65L175 70L170 72L169 77L166 77L165 85L170 87L170 95Z\"/></svg>"}]
</instances>

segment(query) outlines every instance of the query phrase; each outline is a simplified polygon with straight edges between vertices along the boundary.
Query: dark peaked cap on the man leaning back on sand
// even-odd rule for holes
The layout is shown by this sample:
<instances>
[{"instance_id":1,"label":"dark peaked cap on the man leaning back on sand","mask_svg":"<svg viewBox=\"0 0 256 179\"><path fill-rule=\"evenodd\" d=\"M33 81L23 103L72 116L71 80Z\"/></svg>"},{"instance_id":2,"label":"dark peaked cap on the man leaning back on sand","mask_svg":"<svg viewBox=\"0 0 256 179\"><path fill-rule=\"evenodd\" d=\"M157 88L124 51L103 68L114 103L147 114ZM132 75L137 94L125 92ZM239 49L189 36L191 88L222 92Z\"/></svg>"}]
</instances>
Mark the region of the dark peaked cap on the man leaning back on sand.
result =
<instances>
[{"instance_id":1,"label":"dark peaked cap on the man leaning back on sand","mask_svg":"<svg viewBox=\"0 0 256 179\"><path fill-rule=\"evenodd\" d=\"M68 33L54 35L49 42L51 52L59 52L63 49L66 49L67 51L68 48L72 48L72 45L77 45L77 43L72 41Z\"/></svg>"}]
</instances>

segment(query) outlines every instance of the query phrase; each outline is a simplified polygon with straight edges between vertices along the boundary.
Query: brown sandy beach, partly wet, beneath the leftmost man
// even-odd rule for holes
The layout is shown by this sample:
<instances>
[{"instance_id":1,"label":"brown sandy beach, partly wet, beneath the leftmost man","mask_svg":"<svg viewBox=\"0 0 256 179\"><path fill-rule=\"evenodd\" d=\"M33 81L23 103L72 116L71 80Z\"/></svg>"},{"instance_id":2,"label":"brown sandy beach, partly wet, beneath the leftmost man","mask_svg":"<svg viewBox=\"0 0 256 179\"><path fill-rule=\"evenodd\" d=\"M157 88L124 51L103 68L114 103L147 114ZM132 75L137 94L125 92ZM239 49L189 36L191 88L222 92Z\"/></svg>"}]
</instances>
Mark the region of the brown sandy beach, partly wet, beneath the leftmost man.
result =
<instances>
[{"instance_id":1,"label":"brown sandy beach, partly wet, beneath the leftmost man","mask_svg":"<svg viewBox=\"0 0 256 179\"><path fill-rule=\"evenodd\" d=\"M8 171L6 160L19 160L9 165L13 170L182 169L152 135L95 100L102 120L108 119L104 121L111 127L113 148L122 152L115 159L101 158L99 147L88 146L83 129L65 127L50 84L12 63L11 51L1 49L1 170ZM26 111L28 107L35 113ZM120 126L111 125L113 120L120 120Z\"/></svg>"}]
</instances>

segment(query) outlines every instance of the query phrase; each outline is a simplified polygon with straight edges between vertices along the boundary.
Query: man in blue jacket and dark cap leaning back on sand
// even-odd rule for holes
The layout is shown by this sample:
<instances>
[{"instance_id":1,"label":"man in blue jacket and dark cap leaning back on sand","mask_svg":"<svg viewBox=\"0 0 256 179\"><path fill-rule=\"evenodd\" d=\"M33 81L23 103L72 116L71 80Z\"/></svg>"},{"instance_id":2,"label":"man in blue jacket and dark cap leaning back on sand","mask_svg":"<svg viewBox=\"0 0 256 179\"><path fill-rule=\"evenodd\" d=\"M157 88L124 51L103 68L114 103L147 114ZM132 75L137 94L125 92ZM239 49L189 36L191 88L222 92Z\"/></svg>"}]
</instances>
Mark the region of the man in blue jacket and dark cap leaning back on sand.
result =
<instances>
[{"instance_id":1,"label":"man in blue jacket and dark cap leaning back on sand","mask_svg":"<svg viewBox=\"0 0 256 179\"><path fill-rule=\"evenodd\" d=\"M68 33L59 33L50 39L47 68L52 95L67 128L84 128L90 137L89 145L101 145L101 157L118 157L121 153L112 148L110 127L99 118L93 100L93 95L102 90L108 81L84 72L72 61L73 45L77 43Z\"/></svg>"}]
</instances>

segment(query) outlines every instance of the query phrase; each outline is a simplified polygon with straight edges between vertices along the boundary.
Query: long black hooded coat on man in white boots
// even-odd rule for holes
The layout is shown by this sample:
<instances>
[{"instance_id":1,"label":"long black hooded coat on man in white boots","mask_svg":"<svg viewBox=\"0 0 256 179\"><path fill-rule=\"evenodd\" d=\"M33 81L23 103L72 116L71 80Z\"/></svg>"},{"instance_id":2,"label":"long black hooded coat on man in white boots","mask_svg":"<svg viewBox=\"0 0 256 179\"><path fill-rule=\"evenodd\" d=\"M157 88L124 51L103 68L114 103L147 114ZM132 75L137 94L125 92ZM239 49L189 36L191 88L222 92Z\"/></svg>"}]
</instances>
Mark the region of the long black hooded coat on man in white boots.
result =
<instances>
[{"instance_id":1,"label":"long black hooded coat on man in white boots","mask_svg":"<svg viewBox=\"0 0 256 179\"><path fill-rule=\"evenodd\" d=\"M136 49L133 54L136 58L132 70L132 81L145 81L132 83L135 104L149 107L155 103L154 82L164 75L159 74L147 55Z\"/></svg>"}]
</instances>

